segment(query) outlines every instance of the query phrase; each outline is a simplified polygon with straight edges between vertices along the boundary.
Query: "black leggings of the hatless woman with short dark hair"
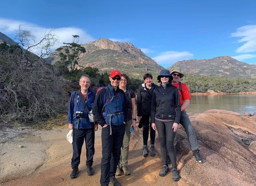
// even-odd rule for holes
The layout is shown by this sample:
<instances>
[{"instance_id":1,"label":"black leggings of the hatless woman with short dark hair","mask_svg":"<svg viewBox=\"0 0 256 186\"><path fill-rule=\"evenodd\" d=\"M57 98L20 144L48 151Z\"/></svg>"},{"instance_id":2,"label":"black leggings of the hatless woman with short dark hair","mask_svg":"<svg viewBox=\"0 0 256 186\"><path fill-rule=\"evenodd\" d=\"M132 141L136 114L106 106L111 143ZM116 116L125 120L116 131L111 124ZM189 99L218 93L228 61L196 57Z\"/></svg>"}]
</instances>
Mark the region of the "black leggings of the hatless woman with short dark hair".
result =
<instances>
[{"instance_id":1,"label":"black leggings of the hatless woman with short dark hair","mask_svg":"<svg viewBox=\"0 0 256 186\"><path fill-rule=\"evenodd\" d=\"M151 123L149 124L149 115L142 115L141 120L143 123L143 145L148 145L149 139L149 127L150 127L150 144L155 145L156 131L152 128Z\"/></svg>"}]
</instances>

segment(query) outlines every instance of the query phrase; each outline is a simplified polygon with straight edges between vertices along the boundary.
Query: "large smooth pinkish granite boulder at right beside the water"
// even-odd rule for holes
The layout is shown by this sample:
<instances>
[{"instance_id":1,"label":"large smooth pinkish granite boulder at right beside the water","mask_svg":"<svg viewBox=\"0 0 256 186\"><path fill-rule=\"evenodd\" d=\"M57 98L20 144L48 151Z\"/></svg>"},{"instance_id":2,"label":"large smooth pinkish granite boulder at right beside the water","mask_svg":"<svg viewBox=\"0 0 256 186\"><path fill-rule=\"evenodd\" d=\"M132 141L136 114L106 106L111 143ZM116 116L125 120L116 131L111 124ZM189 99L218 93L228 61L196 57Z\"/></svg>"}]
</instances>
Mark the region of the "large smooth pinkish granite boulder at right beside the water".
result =
<instances>
[{"instance_id":1,"label":"large smooth pinkish granite boulder at right beside the water","mask_svg":"<svg viewBox=\"0 0 256 186\"><path fill-rule=\"evenodd\" d=\"M190 120L199 141L203 163L196 163L192 158L186 133L179 125L175 148L182 180L189 185L256 184L255 155L230 130L243 128L256 139L254 120L238 113L216 110L195 114Z\"/></svg>"}]
</instances>

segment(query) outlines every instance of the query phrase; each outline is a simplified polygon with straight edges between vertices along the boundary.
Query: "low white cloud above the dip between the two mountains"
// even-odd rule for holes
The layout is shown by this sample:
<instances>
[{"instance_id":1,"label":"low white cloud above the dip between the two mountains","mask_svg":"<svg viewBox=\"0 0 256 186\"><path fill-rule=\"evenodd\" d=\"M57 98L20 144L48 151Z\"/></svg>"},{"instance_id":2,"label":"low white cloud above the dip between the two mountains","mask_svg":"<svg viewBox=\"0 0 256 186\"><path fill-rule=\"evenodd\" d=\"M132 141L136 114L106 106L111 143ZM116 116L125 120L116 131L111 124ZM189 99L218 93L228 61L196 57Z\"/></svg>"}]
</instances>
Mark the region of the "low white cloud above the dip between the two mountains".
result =
<instances>
[{"instance_id":1,"label":"low white cloud above the dip between the two mountains","mask_svg":"<svg viewBox=\"0 0 256 186\"><path fill-rule=\"evenodd\" d=\"M183 51L183 52L177 52L177 51L166 51L160 53L158 56L153 57L152 59L155 60L158 64L170 64L177 61L182 60L188 60L193 57L194 54L191 54L190 52Z\"/></svg>"}]
</instances>

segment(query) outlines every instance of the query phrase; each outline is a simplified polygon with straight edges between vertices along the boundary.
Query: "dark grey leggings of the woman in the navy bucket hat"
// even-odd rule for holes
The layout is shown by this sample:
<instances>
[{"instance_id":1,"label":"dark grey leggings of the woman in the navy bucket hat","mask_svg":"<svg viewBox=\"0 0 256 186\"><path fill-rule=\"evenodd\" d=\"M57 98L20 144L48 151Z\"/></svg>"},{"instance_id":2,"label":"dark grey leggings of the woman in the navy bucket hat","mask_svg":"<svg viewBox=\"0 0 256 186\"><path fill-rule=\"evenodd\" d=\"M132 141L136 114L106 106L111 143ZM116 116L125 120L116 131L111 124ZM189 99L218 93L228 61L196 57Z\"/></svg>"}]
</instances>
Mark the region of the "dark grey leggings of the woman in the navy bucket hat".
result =
<instances>
[{"instance_id":1,"label":"dark grey leggings of the woman in the navy bucket hat","mask_svg":"<svg viewBox=\"0 0 256 186\"><path fill-rule=\"evenodd\" d=\"M172 128L174 121L163 122L163 121L155 120L155 122L156 122L156 129L158 132L159 140L160 140L163 164L164 165L168 164L167 163L167 150L168 150L169 156L172 162L172 169L173 168L176 169L177 160L176 160L175 148L173 145L176 132L174 132Z\"/></svg>"}]
</instances>

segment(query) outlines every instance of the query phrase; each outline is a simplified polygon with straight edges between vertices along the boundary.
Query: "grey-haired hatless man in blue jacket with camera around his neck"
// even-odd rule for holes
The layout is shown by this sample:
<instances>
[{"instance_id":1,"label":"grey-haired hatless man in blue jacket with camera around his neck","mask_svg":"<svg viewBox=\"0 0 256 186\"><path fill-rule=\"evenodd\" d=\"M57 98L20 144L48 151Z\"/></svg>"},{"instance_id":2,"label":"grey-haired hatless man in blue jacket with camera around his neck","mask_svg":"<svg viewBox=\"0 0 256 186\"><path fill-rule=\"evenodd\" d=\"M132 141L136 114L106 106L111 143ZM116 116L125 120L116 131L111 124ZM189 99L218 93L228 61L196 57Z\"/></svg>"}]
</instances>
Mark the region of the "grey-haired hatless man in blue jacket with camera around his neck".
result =
<instances>
[{"instance_id":1,"label":"grey-haired hatless man in blue jacket with camera around his neck","mask_svg":"<svg viewBox=\"0 0 256 186\"><path fill-rule=\"evenodd\" d=\"M82 75L79 81L81 89L71 94L69 102L68 123L69 128L73 129L73 156L71 159L70 174L71 178L76 178L79 173L78 165L82 146L85 140L86 146L86 167L87 175L93 175L93 155L95 131L98 130L98 123L90 122L88 111L91 111L91 105L94 102L96 93L90 90L91 79L89 75Z\"/></svg>"}]
</instances>

